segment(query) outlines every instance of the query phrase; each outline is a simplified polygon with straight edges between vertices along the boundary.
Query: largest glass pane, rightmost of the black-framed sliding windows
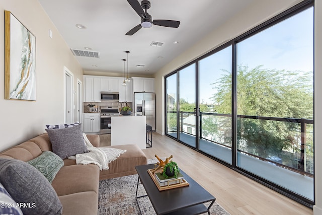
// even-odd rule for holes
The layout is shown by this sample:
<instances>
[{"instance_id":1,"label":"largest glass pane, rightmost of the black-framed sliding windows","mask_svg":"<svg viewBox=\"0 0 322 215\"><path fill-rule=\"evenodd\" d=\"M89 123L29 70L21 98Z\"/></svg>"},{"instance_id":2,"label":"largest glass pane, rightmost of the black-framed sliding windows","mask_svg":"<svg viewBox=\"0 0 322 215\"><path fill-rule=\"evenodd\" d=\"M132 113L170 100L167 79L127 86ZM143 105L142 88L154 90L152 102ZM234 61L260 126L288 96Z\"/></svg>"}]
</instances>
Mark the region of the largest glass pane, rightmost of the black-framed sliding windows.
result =
<instances>
[{"instance_id":1,"label":"largest glass pane, rightmost of the black-framed sliding windows","mask_svg":"<svg viewBox=\"0 0 322 215\"><path fill-rule=\"evenodd\" d=\"M237 166L313 200L313 8L237 44Z\"/></svg>"}]
</instances>

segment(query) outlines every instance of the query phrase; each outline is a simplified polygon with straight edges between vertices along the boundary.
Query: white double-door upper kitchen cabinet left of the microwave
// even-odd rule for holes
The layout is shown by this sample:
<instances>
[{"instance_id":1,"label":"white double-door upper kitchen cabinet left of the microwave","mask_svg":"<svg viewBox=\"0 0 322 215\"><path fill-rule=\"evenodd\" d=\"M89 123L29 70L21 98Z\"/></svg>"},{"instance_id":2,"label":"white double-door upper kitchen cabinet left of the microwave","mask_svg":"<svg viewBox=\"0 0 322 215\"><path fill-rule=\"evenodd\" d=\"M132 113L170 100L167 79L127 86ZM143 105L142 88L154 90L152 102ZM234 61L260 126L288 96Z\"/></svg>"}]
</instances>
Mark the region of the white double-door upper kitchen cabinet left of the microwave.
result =
<instances>
[{"instance_id":1,"label":"white double-door upper kitchen cabinet left of the microwave","mask_svg":"<svg viewBox=\"0 0 322 215\"><path fill-rule=\"evenodd\" d=\"M84 102L101 101L101 78L84 76Z\"/></svg>"}]
</instances>

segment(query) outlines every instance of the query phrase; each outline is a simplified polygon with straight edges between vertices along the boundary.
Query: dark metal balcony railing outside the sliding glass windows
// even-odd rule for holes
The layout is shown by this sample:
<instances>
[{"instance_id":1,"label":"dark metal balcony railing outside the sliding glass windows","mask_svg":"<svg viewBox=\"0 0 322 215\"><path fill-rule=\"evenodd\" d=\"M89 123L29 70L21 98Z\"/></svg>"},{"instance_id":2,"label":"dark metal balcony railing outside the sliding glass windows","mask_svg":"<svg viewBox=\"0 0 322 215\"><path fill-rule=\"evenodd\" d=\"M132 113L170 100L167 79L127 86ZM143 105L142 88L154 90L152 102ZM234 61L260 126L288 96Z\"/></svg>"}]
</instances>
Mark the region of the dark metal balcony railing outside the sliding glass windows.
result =
<instances>
[{"instance_id":1,"label":"dark metal balcony railing outside the sliding glass windows","mask_svg":"<svg viewBox=\"0 0 322 215\"><path fill-rule=\"evenodd\" d=\"M168 111L168 114L177 114L176 111ZM193 126L195 126L194 124L190 123L189 125L187 125L186 123L184 123L184 119L188 118L189 116L193 115L194 112L187 112L187 111L179 111L179 132L183 132L183 133L188 133L190 135L195 136L195 132L193 132L193 129L190 129L190 131L185 130L184 127L187 126L191 126L193 128ZM200 112L200 138L207 140L209 142L212 142L213 144L217 144L220 145L222 147L226 147L229 148L231 150L231 140L230 140L230 144L227 144L226 141L221 142L221 141L215 141L213 139L209 139L204 136L202 136L202 129L203 129L203 119L204 117L229 117L231 118L231 114L218 114L218 113L204 113L204 112ZM298 135L300 138L298 138L298 140L295 140L295 142L297 142L297 146L295 146L295 151L297 153L297 148L299 149L299 158L293 158L294 162L296 163L296 167L291 166L291 165L284 165L279 161L274 161L274 160L270 160L269 158L263 158L261 156L255 155L254 153L251 152L246 152L243 150L238 149L239 153L243 153L245 155L249 155L252 157L255 157L259 160L262 161L266 161L266 162L270 162L276 166L282 167L282 168L286 168L289 169L291 171L300 173L302 175L307 175L310 177L313 177L313 168L312 165L309 165L311 163L311 159L307 159L307 153L306 150L307 148L311 147L311 145L307 145L307 137L310 136L312 137L312 132L309 132L309 135L307 135L307 125L309 124L313 124L313 120L311 119L299 119L299 118L282 118L282 117L266 117L266 116L247 116L247 115L237 115L238 120L243 120L243 119L254 119L254 120L269 120L269 121L276 121L276 122L281 122L281 123L298 123L299 124L299 128L297 130L297 133L300 133L300 135ZM227 129L231 129L231 124L230 124L230 128L227 127ZM221 130L222 131L222 130ZM177 132L177 127L173 127L172 129L168 126L168 133L170 132ZM217 135L220 136L220 131L217 132ZM260 135L260 134L259 134ZM313 151L313 149L311 149ZM285 152L286 153L286 152ZM294 152L288 152L288 153L294 153ZM313 162L312 162L313 163Z\"/></svg>"}]
</instances>

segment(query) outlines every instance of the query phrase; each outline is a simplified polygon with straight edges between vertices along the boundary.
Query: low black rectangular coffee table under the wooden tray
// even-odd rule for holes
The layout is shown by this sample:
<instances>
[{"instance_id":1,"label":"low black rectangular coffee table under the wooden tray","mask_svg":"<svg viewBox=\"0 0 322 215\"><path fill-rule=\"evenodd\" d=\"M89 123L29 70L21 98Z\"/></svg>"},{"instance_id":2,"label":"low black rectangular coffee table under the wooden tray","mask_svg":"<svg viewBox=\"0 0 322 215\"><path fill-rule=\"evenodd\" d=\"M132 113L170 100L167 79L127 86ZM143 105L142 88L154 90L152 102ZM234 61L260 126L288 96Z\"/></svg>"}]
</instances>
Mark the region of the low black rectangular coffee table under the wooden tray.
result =
<instances>
[{"instance_id":1,"label":"low black rectangular coffee table under the wooden tray","mask_svg":"<svg viewBox=\"0 0 322 215\"><path fill-rule=\"evenodd\" d=\"M210 207L216 198L190 178L184 171L180 170L180 173L189 183L189 186L159 191L147 172L148 169L152 168L154 168L154 164L135 166L139 175L135 197L140 214L142 213L138 198L148 196L156 214L200 214L208 212L210 215ZM140 181L147 195L137 196ZM211 203L208 207L203 204L210 201Z\"/></svg>"}]
</instances>

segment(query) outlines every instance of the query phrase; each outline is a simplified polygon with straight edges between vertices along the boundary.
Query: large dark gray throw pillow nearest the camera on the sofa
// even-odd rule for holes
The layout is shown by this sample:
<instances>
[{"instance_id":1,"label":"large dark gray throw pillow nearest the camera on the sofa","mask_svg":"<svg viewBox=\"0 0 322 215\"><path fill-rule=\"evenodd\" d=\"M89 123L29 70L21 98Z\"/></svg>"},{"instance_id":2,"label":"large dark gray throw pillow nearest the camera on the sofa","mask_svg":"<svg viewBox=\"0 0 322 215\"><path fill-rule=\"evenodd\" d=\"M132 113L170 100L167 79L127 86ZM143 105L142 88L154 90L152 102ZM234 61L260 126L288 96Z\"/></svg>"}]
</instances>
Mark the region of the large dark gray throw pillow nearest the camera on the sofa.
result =
<instances>
[{"instance_id":1,"label":"large dark gray throw pillow nearest the camera on the sofa","mask_svg":"<svg viewBox=\"0 0 322 215\"><path fill-rule=\"evenodd\" d=\"M0 158L0 183L17 203L23 204L24 214L62 213L62 204L51 184L26 162Z\"/></svg>"}]
</instances>

